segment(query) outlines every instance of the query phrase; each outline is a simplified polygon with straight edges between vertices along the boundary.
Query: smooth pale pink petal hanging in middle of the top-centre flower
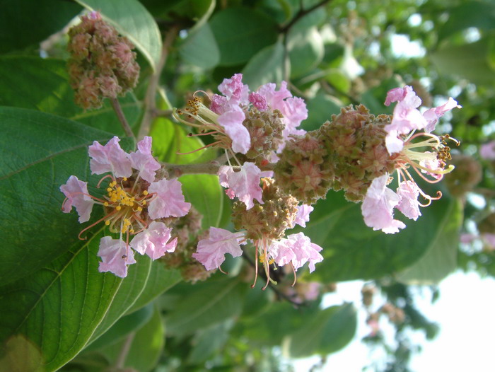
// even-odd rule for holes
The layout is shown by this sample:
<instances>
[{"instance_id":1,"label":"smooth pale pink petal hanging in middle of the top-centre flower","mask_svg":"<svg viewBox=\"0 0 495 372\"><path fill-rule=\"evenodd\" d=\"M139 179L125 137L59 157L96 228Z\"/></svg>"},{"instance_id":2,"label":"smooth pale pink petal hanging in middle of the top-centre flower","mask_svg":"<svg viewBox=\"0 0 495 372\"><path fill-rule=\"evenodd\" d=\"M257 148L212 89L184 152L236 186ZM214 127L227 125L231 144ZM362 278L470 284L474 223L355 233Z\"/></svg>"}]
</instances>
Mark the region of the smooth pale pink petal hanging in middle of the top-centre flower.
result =
<instances>
[{"instance_id":1,"label":"smooth pale pink petal hanging in middle of the top-centre flower","mask_svg":"<svg viewBox=\"0 0 495 372\"><path fill-rule=\"evenodd\" d=\"M232 140L232 150L236 153L247 153L251 147L251 137L243 125L245 113L238 105L230 106L219 118L219 124Z\"/></svg>"}]
</instances>

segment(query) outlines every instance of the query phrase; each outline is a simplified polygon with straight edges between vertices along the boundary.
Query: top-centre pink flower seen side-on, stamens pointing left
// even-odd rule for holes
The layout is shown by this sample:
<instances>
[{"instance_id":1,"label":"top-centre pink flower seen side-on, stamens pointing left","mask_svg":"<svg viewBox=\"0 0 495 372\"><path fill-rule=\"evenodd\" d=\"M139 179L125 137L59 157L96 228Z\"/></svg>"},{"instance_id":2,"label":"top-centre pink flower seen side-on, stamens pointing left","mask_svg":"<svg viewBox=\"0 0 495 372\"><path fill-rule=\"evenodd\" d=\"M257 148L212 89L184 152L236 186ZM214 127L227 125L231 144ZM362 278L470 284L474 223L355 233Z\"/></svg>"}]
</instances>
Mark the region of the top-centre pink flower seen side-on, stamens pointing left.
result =
<instances>
[{"instance_id":1,"label":"top-centre pink flower seen side-on, stamens pointing left","mask_svg":"<svg viewBox=\"0 0 495 372\"><path fill-rule=\"evenodd\" d=\"M292 97L285 81L281 83L278 91L276 84L268 83L256 92L250 92L242 79L242 74L234 74L231 79L223 79L219 85L222 95L208 95L204 91L195 92L185 110L174 110L174 117L184 124L197 127L199 134L195 135L214 136L216 141L204 147L217 146L232 153L247 154L248 151L254 150L253 146L264 143L263 139L253 136L269 136L270 143L275 141L275 150L280 150L284 146L284 141L281 139L288 139L289 134L304 132L296 127L308 117L308 110L302 98ZM199 92L208 95L211 101L209 107L206 107L197 96ZM270 129L260 131L257 128L259 123L253 124L248 114L269 110L276 110L278 115L281 115L281 125L279 122L265 121L264 125L269 126ZM180 115L187 115L195 122L184 120Z\"/></svg>"}]
</instances>

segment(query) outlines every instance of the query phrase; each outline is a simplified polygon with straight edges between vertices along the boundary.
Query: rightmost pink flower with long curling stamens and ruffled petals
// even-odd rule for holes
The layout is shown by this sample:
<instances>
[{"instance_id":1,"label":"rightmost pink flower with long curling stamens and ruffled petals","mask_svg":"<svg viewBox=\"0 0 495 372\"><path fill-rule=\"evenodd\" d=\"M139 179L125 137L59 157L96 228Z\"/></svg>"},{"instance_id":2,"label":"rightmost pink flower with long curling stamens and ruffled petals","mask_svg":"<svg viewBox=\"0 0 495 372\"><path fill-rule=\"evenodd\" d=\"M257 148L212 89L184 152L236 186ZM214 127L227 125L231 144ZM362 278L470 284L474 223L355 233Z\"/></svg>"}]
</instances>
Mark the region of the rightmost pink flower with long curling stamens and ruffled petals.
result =
<instances>
[{"instance_id":1,"label":"rightmost pink flower with long curling stamens and ruffled petals","mask_svg":"<svg viewBox=\"0 0 495 372\"><path fill-rule=\"evenodd\" d=\"M436 136L431 133L445 112L461 107L453 98L421 113L417 108L421 105L421 99L412 87L405 86L387 93L385 105L394 102L397 105L394 107L392 120L384 129L387 132L385 146L395 161L398 187L396 192L387 187L392 182L388 173L375 178L368 187L361 206L366 225L385 233L397 233L399 229L405 228L402 221L393 219L393 209L398 209L408 219L416 220L421 216L419 207L426 207L432 200L442 196L440 191L436 197L431 197L421 190L409 172L410 168L426 182L439 182L445 173L450 173L454 168L453 165L446 164L451 159L447 141L460 144L448 134ZM431 151L424 151L425 148ZM421 204L418 201L419 195L426 199L426 203Z\"/></svg>"}]
</instances>

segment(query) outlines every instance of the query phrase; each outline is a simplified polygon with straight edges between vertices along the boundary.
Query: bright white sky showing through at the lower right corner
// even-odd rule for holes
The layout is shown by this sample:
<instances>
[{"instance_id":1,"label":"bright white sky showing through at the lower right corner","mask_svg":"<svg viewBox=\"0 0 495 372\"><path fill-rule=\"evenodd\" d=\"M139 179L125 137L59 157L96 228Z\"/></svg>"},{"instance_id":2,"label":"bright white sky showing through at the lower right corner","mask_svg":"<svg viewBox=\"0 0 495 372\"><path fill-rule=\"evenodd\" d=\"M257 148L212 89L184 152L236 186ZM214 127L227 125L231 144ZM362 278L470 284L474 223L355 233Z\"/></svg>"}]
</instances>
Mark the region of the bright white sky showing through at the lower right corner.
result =
<instances>
[{"instance_id":1,"label":"bright white sky showing through at the lower right corner","mask_svg":"<svg viewBox=\"0 0 495 372\"><path fill-rule=\"evenodd\" d=\"M325 298L325 306L342 301L352 301L359 306L361 287L361 281L337 284L337 293ZM495 280L481 279L474 272L458 272L444 279L439 288L440 298L433 304L430 291L422 291L422 294L417 291L415 303L426 318L440 324L441 330L433 341L426 341L419 333L412 335L414 343L421 344L423 350L412 357L411 370L495 371ZM383 361L383 355L371 352L361 342L370 331L364 310L359 311L358 322L354 341L337 354L328 356L324 371L361 372L371 361ZM318 357L303 359L296 361L294 366L296 371L306 372L318 361Z\"/></svg>"}]
</instances>

